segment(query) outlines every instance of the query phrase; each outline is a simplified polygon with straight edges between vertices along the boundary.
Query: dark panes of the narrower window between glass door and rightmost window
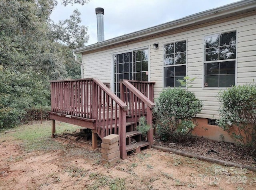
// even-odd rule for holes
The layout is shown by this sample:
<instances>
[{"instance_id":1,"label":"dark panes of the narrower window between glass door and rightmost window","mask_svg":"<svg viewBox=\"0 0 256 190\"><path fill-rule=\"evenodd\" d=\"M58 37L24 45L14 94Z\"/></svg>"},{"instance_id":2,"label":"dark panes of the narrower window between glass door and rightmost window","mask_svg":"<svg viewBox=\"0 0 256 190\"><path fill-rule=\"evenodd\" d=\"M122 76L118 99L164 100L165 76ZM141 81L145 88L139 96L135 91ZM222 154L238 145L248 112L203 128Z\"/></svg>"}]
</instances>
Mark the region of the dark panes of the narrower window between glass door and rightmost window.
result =
<instances>
[{"instance_id":1,"label":"dark panes of the narrower window between glass door and rightmost window","mask_svg":"<svg viewBox=\"0 0 256 190\"><path fill-rule=\"evenodd\" d=\"M186 76L186 41L164 45L164 87L180 86L178 79Z\"/></svg>"}]
</instances>

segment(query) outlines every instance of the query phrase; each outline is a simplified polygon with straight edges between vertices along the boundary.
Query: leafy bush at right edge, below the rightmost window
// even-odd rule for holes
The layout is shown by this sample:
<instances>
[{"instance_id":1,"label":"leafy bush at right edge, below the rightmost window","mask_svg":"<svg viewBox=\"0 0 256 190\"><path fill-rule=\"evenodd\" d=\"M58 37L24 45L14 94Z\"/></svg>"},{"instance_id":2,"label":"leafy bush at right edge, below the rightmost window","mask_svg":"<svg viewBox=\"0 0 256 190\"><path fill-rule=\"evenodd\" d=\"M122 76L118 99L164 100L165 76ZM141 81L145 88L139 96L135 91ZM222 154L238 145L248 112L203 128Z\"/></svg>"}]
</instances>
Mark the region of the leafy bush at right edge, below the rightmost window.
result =
<instances>
[{"instance_id":1,"label":"leafy bush at right edge, below the rightmost window","mask_svg":"<svg viewBox=\"0 0 256 190\"><path fill-rule=\"evenodd\" d=\"M221 91L218 99L222 104L218 125L247 153L256 155L256 84Z\"/></svg>"}]
</instances>

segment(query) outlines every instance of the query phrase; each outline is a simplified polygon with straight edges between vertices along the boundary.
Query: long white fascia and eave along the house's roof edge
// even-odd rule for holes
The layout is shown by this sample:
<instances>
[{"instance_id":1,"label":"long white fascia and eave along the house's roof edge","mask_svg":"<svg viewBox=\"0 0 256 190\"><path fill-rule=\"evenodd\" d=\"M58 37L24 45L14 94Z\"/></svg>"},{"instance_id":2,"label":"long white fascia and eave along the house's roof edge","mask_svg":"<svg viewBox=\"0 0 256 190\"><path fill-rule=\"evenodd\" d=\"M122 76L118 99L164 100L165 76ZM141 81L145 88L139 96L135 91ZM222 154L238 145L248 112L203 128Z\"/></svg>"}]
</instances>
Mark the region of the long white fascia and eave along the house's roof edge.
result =
<instances>
[{"instance_id":1,"label":"long white fascia and eave along the house's roof edge","mask_svg":"<svg viewBox=\"0 0 256 190\"><path fill-rule=\"evenodd\" d=\"M118 36L92 45L79 47L77 49L73 49L72 52L85 53L86 51L94 51L99 48L110 47L113 45L127 43L138 39L144 39L168 31L173 31L175 29L182 29L192 25L202 24L202 22L206 23L212 20L228 18L234 15L238 15L239 13L246 13L253 10L256 10L256 0L243 0L219 8L214 8L211 10L186 16L172 22L167 22L164 24L156 25L154 27Z\"/></svg>"}]
</instances>

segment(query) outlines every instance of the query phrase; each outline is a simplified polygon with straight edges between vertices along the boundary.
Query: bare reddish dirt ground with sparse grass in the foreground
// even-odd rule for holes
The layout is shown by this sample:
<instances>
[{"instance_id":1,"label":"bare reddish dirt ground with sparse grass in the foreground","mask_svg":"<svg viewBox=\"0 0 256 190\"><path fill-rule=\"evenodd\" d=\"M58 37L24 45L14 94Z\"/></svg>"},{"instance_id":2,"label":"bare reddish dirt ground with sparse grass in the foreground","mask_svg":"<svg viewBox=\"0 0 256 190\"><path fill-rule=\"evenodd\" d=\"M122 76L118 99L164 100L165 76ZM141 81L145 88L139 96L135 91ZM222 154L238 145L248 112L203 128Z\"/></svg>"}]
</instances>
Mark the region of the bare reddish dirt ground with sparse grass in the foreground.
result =
<instances>
[{"instance_id":1,"label":"bare reddish dirt ground with sparse grass in the foreground","mask_svg":"<svg viewBox=\"0 0 256 190\"><path fill-rule=\"evenodd\" d=\"M0 190L256 189L256 173L249 170L155 149L110 166L102 165L100 148L88 144L49 138L45 146L28 152L22 141L0 141Z\"/></svg>"}]
</instances>

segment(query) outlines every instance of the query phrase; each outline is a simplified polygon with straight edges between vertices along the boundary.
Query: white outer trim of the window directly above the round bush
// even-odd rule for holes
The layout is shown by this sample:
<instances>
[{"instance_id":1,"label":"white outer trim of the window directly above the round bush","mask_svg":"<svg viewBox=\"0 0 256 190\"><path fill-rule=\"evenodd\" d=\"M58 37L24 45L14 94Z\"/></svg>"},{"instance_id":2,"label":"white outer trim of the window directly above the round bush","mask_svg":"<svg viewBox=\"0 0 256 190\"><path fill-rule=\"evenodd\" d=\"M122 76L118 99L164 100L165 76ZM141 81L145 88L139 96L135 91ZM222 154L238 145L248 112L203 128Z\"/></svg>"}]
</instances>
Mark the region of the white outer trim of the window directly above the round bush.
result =
<instances>
[{"instance_id":1,"label":"white outer trim of the window directly above the round bush","mask_svg":"<svg viewBox=\"0 0 256 190\"><path fill-rule=\"evenodd\" d=\"M162 52L163 52L163 57L162 57L162 63L163 63L163 72L162 72L162 81L163 81L163 83L162 83L162 88L174 88L174 87L164 87L164 67L174 67L174 66L177 66L177 65L164 65L164 55L165 55L165 53L164 53L164 46L166 45L166 44L170 44L170 43L175 43L175 42L180 42L180 41L186 41L186 63L184 63L184 64L177 64L177 65L186 65L186 76L188 76L188 39L186 38L186 39L179 39L179 40L176 40L176 41L168 41L168 42L166 42L166 43L164 43L163 44L163 50L162 50ZM188 87L188 84L186 84L186 86L184 86L184 88L187 88Z\"/></svg>"}]
</instances>

